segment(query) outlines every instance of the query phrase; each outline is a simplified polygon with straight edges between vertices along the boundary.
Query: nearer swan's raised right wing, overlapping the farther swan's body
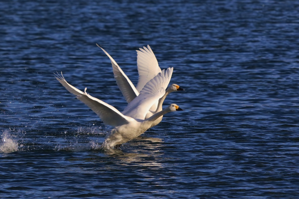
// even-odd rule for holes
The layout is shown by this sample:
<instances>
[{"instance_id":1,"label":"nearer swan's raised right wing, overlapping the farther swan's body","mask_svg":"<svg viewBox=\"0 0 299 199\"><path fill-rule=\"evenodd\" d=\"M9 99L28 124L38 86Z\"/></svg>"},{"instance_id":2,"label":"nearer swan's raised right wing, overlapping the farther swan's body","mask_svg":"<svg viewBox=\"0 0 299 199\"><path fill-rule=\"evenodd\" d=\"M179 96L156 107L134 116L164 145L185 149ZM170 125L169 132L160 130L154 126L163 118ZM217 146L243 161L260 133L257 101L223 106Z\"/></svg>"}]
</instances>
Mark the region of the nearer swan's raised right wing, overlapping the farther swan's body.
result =
<instances>
[{"instance_id":1,"label":"nearer swan's raised right wing, overlapping the farther swan's body","mask_svg":"<svg viewBox=\"0 0 299 199\"><path fill-rule=\"evenodd\" d=\"M144 120L152 105L165 94L165 88L169 84L172 73L173 68L162 70L147 82L140 94L123 110L123 115Z\"/></svg>"}]
</instances>

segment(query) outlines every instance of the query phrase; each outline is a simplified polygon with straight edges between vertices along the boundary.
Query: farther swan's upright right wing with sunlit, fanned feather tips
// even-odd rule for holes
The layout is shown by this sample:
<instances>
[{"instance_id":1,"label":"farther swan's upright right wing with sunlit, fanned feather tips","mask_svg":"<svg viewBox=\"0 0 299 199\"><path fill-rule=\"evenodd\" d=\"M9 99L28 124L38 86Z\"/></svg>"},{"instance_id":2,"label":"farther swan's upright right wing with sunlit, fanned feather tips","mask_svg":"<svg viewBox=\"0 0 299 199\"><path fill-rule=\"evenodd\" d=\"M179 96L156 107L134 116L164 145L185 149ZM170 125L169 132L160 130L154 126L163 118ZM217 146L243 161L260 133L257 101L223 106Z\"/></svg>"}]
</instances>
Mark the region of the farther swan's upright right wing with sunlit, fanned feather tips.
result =
<instances>
[{"instance_id":1,"label":"farther swan's upright right wing with sunlit, fanned feather tips","mask_svg":"<svg viewBox=\"0 0 299 199\"><path fill-rule=\"evenodd\" d=\"M147 45L137 51L138 83L136 89L140 92L145 84L161 72L158 61L152 49Z\"/></svg>"}]
</instances>

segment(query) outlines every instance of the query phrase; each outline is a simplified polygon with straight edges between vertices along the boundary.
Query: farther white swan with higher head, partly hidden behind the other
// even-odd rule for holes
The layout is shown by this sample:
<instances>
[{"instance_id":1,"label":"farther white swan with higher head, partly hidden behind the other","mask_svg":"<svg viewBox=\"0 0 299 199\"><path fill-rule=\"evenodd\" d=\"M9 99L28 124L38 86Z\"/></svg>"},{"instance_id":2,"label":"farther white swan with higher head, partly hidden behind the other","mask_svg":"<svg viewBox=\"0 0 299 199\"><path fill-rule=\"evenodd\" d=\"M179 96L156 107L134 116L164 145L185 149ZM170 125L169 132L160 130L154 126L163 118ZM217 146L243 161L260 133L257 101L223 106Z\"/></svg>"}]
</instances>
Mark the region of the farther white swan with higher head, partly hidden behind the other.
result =
<instances>
[{"instance_id":1,"label":"farther white swan with higher head, partly hidden behind the other","mask_svg":"<svg viewBox=\"0 0 299 199\"><path fill-rule=\"evenodd\" d=\"M98 47L100 47L97 44ZM100 47L101 48L101 47ZM155 54L152 52L152 49L147 45L146 47L139 48L137 51L137 68L138 68L138 83L135 87L131 80L126 76L126 74L121 70L121 68L118 66L116 61L103 49L101 48L104 53L109 57L111 63L112 63L112 69L114 73L114 78L116 80L116 83L118 87L120 88L120 91L122 92L123 96L125 97L126 101L130 103L133 99L135 99L139 92L144 88L144 86L149 82L152 78L154 78L158 73L161 72L161 69L159 67L158 61L155 57ZM172 73L172 72L171 72ZM166 85L166 87L168 84ZM166 88L164 87L164 88ZM152 107L148 110L145 117L140 117L140 115L136 115L135 109L130 109L129 106L126 107L126 109L122 112L126 116L138 118L138 119L147 119L154 115L155 113L162 110L162 104L166 98L166 96L175 91L181 91L182 89L177 84L171 84L170 87L166 90L164 96L160 99L158 99ZM162 121L163 115L159 117L156 121L153 122L152 126L155 126L159 124Z\"/></svg>"}]
</instances>

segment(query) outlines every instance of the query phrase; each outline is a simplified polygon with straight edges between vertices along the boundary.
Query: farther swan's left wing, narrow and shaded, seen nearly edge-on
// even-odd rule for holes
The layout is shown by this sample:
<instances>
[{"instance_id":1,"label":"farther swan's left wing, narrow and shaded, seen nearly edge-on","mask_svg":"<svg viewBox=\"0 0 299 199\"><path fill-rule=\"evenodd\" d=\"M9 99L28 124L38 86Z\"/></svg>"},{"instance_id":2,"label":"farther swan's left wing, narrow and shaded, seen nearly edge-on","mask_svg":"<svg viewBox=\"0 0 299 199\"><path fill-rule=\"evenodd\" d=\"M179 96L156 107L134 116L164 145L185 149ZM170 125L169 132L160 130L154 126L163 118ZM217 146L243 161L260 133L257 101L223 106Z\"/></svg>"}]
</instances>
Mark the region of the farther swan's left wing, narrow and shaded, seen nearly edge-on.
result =
<instances>
[{"instance_id":1,"label":"farther swan's left wing, narrow and shaded, seen nearly edge-on","mask_svg":"<svg viewBox=\"0 0 299 199\"><path fill-rule=\"evenodd\" d=\"M99 45L97 45L100 47ZM101 47L100 47L101 48ZM136 96L139 95L139 92L136 90L135 86L132 84L131 80L127 77L127 75L121 70L118 64L114 61L114 59L103 49L104 53L109 57L112 64L114 78L116 83L125 97L126 101L130 103ZM160 70L161 71L161 70Z\"/></svg>"}]
</instances>

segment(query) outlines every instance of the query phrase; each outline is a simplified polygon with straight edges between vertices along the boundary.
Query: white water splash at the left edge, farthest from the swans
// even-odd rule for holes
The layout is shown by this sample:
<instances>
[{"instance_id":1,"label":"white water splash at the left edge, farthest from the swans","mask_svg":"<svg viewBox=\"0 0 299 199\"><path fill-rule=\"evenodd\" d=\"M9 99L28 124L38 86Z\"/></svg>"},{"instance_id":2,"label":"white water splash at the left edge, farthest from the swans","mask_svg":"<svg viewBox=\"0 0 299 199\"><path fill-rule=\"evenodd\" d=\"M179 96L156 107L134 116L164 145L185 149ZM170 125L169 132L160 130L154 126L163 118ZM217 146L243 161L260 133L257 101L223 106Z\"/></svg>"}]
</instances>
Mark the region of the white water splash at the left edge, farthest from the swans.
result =
<instances>
[{"instance_id":1,"label":"white water splash at the left edge, farthest from the swans","mask_svg":"<svg viewBox=\"0 0 299 199\"><path fill-rule=\"evenodd\" d=\"M10 153L17 151L19 148L18 140L10 134L10 131L4 130L1 135L0 152Z\"/></svg>"}]
</instances>

